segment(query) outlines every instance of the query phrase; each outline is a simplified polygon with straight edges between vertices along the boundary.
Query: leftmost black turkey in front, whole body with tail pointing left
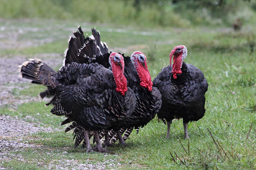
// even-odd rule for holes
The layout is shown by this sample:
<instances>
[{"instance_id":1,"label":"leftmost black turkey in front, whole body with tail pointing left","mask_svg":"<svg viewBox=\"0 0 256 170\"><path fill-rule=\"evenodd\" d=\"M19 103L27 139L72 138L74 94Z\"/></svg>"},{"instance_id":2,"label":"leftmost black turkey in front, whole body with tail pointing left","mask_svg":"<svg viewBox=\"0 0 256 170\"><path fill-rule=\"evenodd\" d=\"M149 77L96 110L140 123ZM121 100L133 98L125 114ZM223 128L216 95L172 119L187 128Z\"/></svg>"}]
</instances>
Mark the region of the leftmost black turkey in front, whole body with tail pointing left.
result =
<instances>
[{"instance_id":1,"label":"leftmost black turkey in front, whole body with tail pointing left","mask_svg":"<svg viewBox=\"0 0 256 170\"><path fill-rule=\"evenodd\" d=\"M124 60L118 53L109 56L112 71L98 63L66 64L56 72L39 59L30 59L19 66L20 76L41 84L47 90L41 98L52 97L47 103L54 107L51 113L68 117L65 123L74 121L83 128L87 152L90 152L89 130L94 131L94 150L108 152L102 148L98 131L115 129L128 124L134 111L136 99L123 75Z\"/></svg>"}]
</instances>

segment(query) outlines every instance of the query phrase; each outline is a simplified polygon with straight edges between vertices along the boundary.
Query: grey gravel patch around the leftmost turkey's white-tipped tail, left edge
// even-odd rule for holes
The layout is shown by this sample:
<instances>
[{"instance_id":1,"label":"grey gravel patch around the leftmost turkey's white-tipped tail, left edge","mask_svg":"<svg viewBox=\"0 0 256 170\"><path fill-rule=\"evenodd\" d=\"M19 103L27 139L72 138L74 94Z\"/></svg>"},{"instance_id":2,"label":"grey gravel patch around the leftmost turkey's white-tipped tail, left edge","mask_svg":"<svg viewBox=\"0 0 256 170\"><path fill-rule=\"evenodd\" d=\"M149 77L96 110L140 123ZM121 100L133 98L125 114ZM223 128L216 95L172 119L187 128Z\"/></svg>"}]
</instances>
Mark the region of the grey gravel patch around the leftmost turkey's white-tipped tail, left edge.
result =
<instances>
[{"instance_id":1,"label":"grey gravel patch around the leftmost turkey's white-tipped tail, left edge","mask_svg":"<svg viewBox=\"0 0 256 170\"><path fill-rule=\"evenodd\" d=\"M59 53L39 54L36 58L41 59L50 67L56 68L61 66L63 55ZM13 95L13 89L22 90L31 87L28 83L30 80L19 77L17 66L28 60L27 56L0 57L0 107L6 104L12 104L11 107L17 107L18 104L30 101L41 101L39 97L17 96ZM21 86L20 84L23 83Z\"/></svg>"}]
</instances>

